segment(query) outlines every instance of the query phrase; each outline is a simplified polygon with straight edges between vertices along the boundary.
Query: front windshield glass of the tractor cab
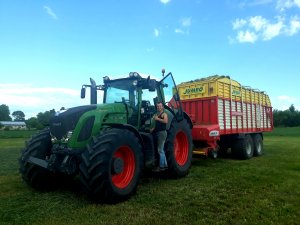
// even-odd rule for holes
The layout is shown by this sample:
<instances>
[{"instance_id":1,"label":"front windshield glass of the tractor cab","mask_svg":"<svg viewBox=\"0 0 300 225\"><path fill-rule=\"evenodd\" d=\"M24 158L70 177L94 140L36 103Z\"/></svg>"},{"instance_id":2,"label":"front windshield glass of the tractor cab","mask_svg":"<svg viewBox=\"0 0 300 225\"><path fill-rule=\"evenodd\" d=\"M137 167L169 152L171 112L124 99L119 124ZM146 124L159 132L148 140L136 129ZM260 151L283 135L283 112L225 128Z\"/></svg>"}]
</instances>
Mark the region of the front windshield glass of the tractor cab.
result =
<instances>
[{"instance_id":1,"label":"front windshield glass of the tractor cab","mask_svg":"<svg viewBox=\"0 0 300 225\"><path fill-rule=\"evenodd\" d=\"M103 102L126 102L134 107L137 104L135 81L132 79L118 79L108 82Z\"/></svg>"}]
</instances>

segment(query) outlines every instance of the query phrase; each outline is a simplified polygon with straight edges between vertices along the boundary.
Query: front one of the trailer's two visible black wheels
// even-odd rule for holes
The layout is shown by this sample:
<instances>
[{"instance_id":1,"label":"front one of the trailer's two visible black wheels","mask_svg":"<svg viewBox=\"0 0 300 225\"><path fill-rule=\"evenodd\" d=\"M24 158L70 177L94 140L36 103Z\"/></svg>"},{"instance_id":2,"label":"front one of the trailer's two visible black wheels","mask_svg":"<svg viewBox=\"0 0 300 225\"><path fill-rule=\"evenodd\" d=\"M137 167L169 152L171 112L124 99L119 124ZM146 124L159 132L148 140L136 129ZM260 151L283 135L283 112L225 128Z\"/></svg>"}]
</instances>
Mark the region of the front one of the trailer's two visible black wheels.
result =
<instances>
[{"instance_id":1,"label":"front one of the trailer's two visible black wheels","mask_svg":"<svg viewBox=\"0 0 300 225\"><path fill-rule=\"evenodd\" d=\"M238 159L250 159L253 156L253 141L249 134L243 139L236 139L232 146L232 153Z\"/></svg>"}]
</instances>

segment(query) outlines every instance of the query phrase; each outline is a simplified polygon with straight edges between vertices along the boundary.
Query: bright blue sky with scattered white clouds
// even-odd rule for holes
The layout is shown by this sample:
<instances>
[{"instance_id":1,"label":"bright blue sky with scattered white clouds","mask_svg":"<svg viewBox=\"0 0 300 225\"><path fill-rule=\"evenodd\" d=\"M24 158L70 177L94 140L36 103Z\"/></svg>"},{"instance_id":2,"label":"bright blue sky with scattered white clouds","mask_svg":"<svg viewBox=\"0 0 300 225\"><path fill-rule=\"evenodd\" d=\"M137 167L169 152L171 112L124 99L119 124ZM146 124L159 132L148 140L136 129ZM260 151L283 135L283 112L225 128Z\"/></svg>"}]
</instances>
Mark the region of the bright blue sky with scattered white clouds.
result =
<instances>
[{"instance_id":1,"label":"bright blue sky with scattered white clouds","mask_svg":"<svg viewBox=\"0 0 300 225\"><path fill-rule=\"evenodd\" d=\"M89 104L92 77L227 75L300 110L300 0L0 0L0 105Z\"/></svg>"}]
</instances>

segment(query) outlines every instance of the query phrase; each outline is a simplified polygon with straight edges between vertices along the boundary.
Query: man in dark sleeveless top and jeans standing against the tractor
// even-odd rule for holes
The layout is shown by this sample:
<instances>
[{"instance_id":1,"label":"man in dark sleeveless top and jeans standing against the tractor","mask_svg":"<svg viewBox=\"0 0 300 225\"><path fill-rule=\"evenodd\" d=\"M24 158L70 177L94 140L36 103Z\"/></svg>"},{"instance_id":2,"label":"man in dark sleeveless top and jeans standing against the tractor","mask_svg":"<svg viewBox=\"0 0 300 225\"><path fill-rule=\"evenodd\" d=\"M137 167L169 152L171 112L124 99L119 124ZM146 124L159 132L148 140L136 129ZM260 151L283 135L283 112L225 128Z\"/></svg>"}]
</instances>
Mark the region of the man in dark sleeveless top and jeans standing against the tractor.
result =
<instances>
[{"instance_id":1,"label":"man in dark sleeveless top and jeans standing against the tractor","mask_svg":"<svg viewBox=\"0 0 300 225\"><path fill-rule=\"evenodd\" d=\"M167 123L168 114L164 111L162 102L156 104L157 112L154 115L155 128L151 129L154 138L157 142L157 151L159 155L159 168L155 169L156 172L168 169L168 163L164 151L164 144L167 138Z\"/></svg>"}]
</instances>

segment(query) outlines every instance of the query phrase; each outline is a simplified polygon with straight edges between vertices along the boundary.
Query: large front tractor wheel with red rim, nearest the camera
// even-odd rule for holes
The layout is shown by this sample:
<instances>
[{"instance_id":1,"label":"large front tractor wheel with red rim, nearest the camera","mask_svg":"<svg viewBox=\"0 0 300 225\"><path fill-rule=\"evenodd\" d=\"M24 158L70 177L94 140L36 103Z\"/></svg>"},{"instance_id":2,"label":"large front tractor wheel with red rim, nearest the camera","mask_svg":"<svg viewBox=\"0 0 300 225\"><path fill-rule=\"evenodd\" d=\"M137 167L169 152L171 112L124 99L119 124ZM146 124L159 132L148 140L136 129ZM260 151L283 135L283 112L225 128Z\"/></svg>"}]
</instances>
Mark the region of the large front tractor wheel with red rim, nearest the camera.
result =
<instances>
[{"instance_id":1,"label":"large front tractor wheel with red rim, nearest the camera","mask_svg":"<svg viewBox=\"0 0 300 225\"><path fill-rule=\"evenodd\" d=\"M117 203L136 191L143 154L141 144L132 132L106 130L93 138L81 157L80 181L93 201Z\"/></svg>"}]
</instances>

